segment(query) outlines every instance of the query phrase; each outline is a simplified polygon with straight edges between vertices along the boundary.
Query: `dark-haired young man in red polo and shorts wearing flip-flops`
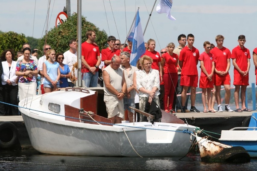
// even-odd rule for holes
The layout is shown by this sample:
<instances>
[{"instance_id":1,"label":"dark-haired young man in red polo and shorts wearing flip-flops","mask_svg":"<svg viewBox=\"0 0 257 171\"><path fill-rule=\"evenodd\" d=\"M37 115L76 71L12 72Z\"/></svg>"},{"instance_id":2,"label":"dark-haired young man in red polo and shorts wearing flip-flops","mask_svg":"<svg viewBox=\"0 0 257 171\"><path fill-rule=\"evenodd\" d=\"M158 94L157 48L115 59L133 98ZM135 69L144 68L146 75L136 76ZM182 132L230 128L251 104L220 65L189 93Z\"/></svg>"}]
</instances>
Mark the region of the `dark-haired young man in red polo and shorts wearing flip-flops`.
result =
<instances>
[{"instance_id":1,"label":"dark-haired young man in red polo and shorts wearing flip-flops","mask_svg":"<svg viewBox=\"0 0 257 171\"><path fill-rule=\"evenodd\" d=\"M249 85L249 69L250 69L250 51L244 47L246 37L238 36L239 45L232 50L232 63L234 65L234 82L235 92L234 98L236 103L236 112L250 112L252 110L246 108L246 87ZM242 109L239 108L239 90L241 86Z\"/></svg>"}]
</instances>

